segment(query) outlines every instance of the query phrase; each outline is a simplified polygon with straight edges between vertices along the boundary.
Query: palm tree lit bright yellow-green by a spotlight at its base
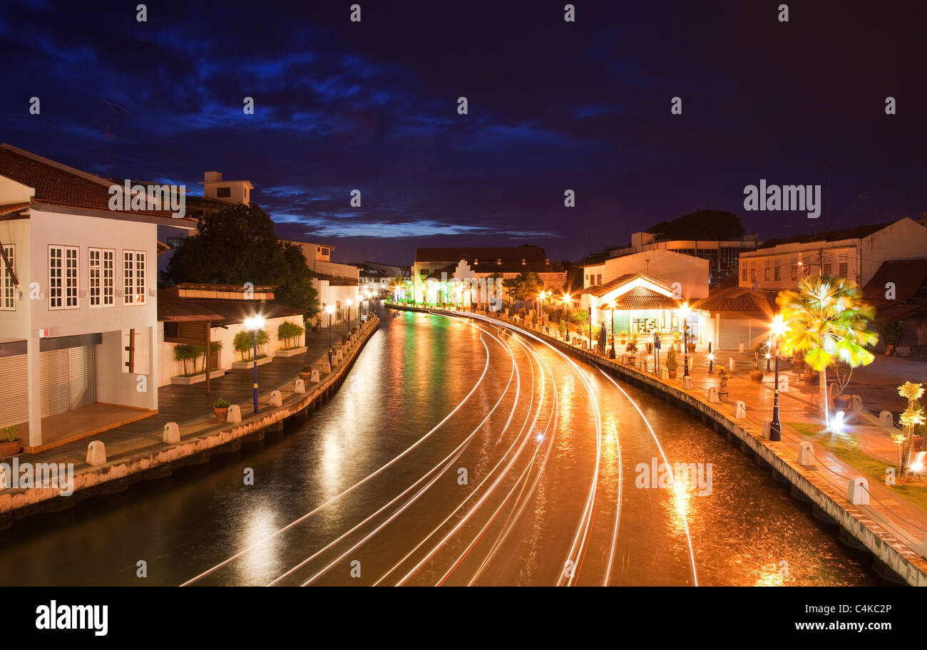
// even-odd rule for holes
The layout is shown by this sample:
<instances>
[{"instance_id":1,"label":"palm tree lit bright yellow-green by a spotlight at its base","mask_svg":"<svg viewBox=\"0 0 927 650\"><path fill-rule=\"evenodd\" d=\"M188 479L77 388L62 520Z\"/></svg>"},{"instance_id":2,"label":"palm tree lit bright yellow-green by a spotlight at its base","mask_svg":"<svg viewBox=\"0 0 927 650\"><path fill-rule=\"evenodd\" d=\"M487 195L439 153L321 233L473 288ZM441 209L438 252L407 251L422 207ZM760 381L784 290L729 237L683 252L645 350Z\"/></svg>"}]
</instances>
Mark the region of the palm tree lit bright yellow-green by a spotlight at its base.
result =
<instances>
[{"instance_id":1,"label":"palm tree lit bright yellow-green by a spotlight at its base","mask_svg":"<svg viewBox=\"0 0 927 650\"><path fill-rule=\"evenodd\" d=\"M783 291L776 298L782 319L789 323L782 351L805 353L806 364L820 373L820 415L830 426L827 410L827 368L844 363L850 368L872 363L866 349L879 336L869 331L875 307L864 303L857 283L845 278L806 276L798 291Z\"/></svg>"}]
</instances>

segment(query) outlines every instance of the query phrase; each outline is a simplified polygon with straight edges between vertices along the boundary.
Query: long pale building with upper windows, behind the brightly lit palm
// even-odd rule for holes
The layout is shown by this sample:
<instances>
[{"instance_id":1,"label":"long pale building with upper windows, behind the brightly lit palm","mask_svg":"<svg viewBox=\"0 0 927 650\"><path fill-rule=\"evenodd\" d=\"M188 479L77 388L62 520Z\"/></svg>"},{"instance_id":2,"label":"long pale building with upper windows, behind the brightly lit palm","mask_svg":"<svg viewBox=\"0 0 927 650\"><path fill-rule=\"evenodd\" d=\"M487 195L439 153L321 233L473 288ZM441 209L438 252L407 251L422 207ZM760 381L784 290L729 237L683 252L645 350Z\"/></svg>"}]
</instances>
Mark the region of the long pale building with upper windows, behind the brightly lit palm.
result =
<instances>
[{"instance_id":1,"label":"long pale building with upper windows, behind the brightly lit palm","mask_svg":"<svg viewBox=\"0 0 927 650\"><path fill-rule=\"evenodd\" d=\"M778 293L806 275L835 276L860 287L890 260L917 259L927 251L927 228L904 218L838 231L772 239L741 254L742 287Z\"/></svg>"}]
</instances>

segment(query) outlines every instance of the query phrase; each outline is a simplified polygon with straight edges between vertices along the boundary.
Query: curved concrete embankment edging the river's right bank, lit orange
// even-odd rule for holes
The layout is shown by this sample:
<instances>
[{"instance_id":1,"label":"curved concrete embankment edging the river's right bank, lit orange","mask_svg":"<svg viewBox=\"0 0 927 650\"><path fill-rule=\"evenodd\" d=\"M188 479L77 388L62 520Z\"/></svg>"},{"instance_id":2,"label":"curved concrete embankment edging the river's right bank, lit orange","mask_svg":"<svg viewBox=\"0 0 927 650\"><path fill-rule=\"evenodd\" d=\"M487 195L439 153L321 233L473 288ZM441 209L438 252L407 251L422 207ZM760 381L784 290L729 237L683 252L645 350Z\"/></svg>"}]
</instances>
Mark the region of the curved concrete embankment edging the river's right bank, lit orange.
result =
<instances>
[{"instance_id":1,"label":"curved concrete embankment edging the river's right bank, lit orange","mask_svg":"<svg viewBox=\"0 0 927 650\"><path fill-rule=\"evenodd\" d=\"M485 319L485 315L473 315L469 312L451 312L440 309L423 309L403 305L387 305L394 309L421 311L456 317ZM880 523L873 513L864 506L854 506L834 489L832 483L825 481L819 467L805 467L797 462L794 448L782 442L770 442L763 437L762 424L746 418L735 418L730 412L730 404L708 402L707 395L692 394L684 390L680 381L664 380L652 372L634 366L623 365L617 360L595 354L566 343L555 336L550 336L531 327L512 323L507 319L492 318L498 325L523 331L538 337L544 343L551 344L561 352L581 359L603 369L610 375L628 381L652 394L659 394L668 403L689 411L709 424L715 431L737 441L741 451L753 457L763 469L772 472L777 481L791 484L791 494L797 500L809 504L816 519L838 527L834 531L842 543L854 552L867 552L872 559L872 569L889 581L898 581L913 586L927 586L927 560L921 553L912 550L890 530L890 523ZM748 405L749 408L749 405Z\"/></svg>"}]
</instances>

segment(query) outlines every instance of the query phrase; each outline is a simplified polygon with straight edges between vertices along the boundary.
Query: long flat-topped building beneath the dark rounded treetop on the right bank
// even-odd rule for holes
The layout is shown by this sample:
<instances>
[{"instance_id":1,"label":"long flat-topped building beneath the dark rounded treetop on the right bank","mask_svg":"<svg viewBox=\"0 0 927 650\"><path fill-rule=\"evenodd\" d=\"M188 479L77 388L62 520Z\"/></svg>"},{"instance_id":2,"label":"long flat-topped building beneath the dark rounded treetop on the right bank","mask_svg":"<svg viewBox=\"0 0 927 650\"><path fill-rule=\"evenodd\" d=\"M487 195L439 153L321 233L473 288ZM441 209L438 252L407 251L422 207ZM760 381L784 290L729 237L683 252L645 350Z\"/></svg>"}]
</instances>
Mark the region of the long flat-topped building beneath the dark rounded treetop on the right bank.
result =
<instances>
[{"instance_id":1,"label":"long flat-topped building beneath the dark rounded treetop on the right bank","mask_svg":"<svg viewBox=\"0 0 927 650\"><path fill-rule=\"evenodd\" d=\"M611 257L622 257L649 251L673 251L681 255L701 257L708 260L708 282L710 286L723 286L737 278L738 260L741 253L756 249L756 235L745 235L738 239L713 240L669 240L653 232L634 232L631 244L615 248Z\"/></svg>"}]
</instances>

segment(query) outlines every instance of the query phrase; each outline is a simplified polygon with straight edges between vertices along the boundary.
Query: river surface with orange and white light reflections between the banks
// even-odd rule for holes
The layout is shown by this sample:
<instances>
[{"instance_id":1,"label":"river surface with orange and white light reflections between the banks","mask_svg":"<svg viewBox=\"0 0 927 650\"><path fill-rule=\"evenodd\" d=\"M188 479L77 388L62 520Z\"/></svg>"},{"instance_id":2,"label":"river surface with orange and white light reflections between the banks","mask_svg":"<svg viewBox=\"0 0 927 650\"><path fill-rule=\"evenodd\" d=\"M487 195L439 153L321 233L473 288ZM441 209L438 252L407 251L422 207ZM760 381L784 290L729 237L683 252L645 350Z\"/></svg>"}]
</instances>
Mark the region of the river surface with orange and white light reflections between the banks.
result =
<instances>
[{"instance_id":1,"label":"river surface with orange and white light reflections between the banks","mask_svg":"<svg viewBox=\"0 0 927 650\"><path fill-rule=\"evenodd\" d=\"M712 463L711 494L700 495L697 484L635 486L637 465L654 457L662 463L663 458L628 397L598 371L584 368L601 409L601 441L594 435L586 389L551 350L540 348L540 359L532 360L511 341L510 355L469 321L413 313L389 317L388 312L381 314L380 330L332 400L290 423L286 435L269 434L265 443L246 444L239 452L214 457L208 466L182 469L168 480L141 483L126 493L0 531L0 581L178 584L251 547L240 561L211 574L208 582L266 584L362 524L436 468L498 402L497 411L453 467L395 521L375 535L371 531L387 514L363 523L337 548L320 553L311 570L294 574L294 583L327 564L332 569L313 583L358 583L349 574L347 563L353 559L362 563L362 582L372 583L427 540L424 555L450 529L432 538L428 534L464 503L448 526L458 521L476 501L466 501L469 491L500 460L514 460L511 477L500 481L499 489L412 583L437 581L464 554L449 583L466 584L478 574L478 584L553 584L563 571L590 494L598 443L602 456L594 519L578 568L579 583L602 580L611 556L619 489L612 584L692 584L686 523L700 584L874 583L768 472L654 395L624 386L650 421L670 465ZM513 357L519 374L506 390ZM357 485L431 431L471 391L464 406L423 444ZM510 426L502 431L506 422ZM524 454L507 456L519 436L533 435L532 423L540 431L548 431L550 423L549 432L532 438ZM244 484L248 468L254 471L254 485ZM465 485L457 480L459 468L468 471ZM522 472L523 483L516 483ZM269 537L352 486L317 515L286 534ZM510 488L511 496L503 499ZM499 515L490 521L497 506ZM466 554L475 538L478 543ZM359 544L356 550L339 561L354 544ZM139 560L147 563L146 579L135 575ZM384 583L397 581L411 566L403 565Z\"/></svg>"}]
</instances>

